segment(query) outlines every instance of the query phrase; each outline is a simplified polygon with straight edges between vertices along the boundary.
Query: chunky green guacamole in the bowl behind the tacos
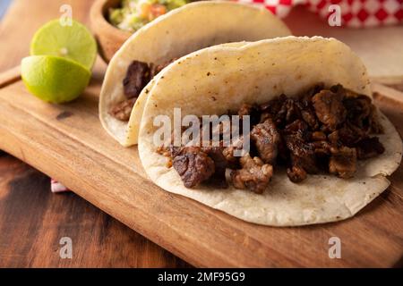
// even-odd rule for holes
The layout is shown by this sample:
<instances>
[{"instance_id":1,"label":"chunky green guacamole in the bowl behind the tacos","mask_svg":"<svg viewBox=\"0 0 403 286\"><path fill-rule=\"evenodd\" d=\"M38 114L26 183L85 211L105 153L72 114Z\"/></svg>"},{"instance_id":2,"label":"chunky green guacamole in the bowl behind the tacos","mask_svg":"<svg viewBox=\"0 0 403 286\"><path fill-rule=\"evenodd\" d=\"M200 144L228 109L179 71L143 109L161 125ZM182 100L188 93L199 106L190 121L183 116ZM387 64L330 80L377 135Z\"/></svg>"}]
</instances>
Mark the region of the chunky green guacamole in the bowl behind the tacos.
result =
<instances>
[{"instance_id":1,"label":"chunky green guacamole in the bowl behind the tacos","mask_svg":"<svg viewBox=\"0 0 403 286\"><path fill-rule=\"evenodd\" d=\"M122 0L109 9L109 21L119 29L134 32L160 15L192 2L191 0Z\"/></svg>"}]
</instances>

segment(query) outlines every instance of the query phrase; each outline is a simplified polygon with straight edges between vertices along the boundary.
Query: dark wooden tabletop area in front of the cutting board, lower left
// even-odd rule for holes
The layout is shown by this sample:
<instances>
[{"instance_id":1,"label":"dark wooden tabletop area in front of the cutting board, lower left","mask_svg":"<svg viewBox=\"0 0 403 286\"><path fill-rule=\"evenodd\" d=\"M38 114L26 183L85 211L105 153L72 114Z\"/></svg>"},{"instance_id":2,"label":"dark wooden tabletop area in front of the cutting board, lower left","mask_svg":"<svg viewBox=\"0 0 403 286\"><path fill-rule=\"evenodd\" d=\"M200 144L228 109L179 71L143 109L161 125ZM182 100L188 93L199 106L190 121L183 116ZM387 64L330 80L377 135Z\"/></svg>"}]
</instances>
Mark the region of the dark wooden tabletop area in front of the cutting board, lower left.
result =
<instances>
[{"instance_id":1,"label":"dark wooden tabletop area in front of the cutting board, lower left","mask_svg":"<svg viewBox=\"0 0 403 286\"><path fill-rule=\"evenodd\" d=\"M186 266L75 194L52 195L46 175L11 156L0 162L0 267ZM62 237L73 259L60 258Z\"/></svg>"}]
</instances>

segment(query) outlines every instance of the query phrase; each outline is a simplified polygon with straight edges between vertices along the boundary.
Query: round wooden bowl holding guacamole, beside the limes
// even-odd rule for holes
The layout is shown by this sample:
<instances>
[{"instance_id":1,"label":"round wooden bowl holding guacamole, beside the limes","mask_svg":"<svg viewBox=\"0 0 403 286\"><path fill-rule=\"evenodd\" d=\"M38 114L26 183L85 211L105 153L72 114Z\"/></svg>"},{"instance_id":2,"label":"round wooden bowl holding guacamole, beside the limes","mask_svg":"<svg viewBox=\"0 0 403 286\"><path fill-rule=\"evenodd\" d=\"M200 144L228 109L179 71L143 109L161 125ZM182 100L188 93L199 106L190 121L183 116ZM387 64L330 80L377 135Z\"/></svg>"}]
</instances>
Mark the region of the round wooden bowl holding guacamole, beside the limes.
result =
<instances>
[{"instance_id":1,"label":"round wooden bowl holding guacamole, beside the limes","mask_svg":"<svg viewBox=\"0 0 403 286\"><path fill-rule=\"evenodd\" d=\"M109 8L117 7L120 0L97 0L90 9L90 25L99 45L99 55L109 63L116 51L132 33L117 29L107 21Z\"/></svg>"}]
</instances>

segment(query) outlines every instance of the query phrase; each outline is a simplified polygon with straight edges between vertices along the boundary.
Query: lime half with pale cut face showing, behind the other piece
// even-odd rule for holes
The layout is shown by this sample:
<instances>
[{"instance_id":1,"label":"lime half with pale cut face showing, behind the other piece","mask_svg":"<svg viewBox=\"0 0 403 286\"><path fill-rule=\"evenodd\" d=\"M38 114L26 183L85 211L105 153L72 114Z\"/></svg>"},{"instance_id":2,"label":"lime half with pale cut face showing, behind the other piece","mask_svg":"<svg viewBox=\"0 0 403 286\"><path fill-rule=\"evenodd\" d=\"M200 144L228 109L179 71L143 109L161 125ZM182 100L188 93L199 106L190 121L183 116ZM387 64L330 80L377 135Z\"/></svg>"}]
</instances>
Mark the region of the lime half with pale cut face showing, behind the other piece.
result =
<instances>
[{"instance_id":1,"label":"lime half with pale cut face showing, behind the other piece","mask_svg":"<svg viewBox=\"0 0 403 286\"><path fill-rule=\"evenodd\" d=\"M62 26L59 20L53 20L35 33L30 55L61 56L91 70L97 57L97 42L90 30L78 21L72 21L72 26Z\"/></svg>"}]
</instances>

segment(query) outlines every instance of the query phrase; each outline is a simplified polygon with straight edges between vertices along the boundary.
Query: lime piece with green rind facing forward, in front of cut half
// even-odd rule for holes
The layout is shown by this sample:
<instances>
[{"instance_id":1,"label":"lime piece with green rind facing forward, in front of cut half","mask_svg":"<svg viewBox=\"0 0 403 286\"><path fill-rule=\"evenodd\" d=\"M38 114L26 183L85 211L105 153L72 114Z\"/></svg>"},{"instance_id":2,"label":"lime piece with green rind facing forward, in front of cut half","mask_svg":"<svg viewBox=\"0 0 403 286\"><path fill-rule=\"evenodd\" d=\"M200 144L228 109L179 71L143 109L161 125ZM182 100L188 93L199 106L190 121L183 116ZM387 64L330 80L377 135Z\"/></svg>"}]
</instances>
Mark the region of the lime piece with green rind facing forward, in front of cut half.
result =
<instances>
[{"instance_id":1,"label":"lime piece with green rind facing forward, in front of cut half","mask_svg":"<svg viewBox=\"0 0 403 286\"><path fill-rule=\"evenodd\" d=\"M90 82L90 71L80 63L54 55L32 55L21 61L21 78L30 93L50 103L79 97Z\"/></svg>"}]
</instances>

